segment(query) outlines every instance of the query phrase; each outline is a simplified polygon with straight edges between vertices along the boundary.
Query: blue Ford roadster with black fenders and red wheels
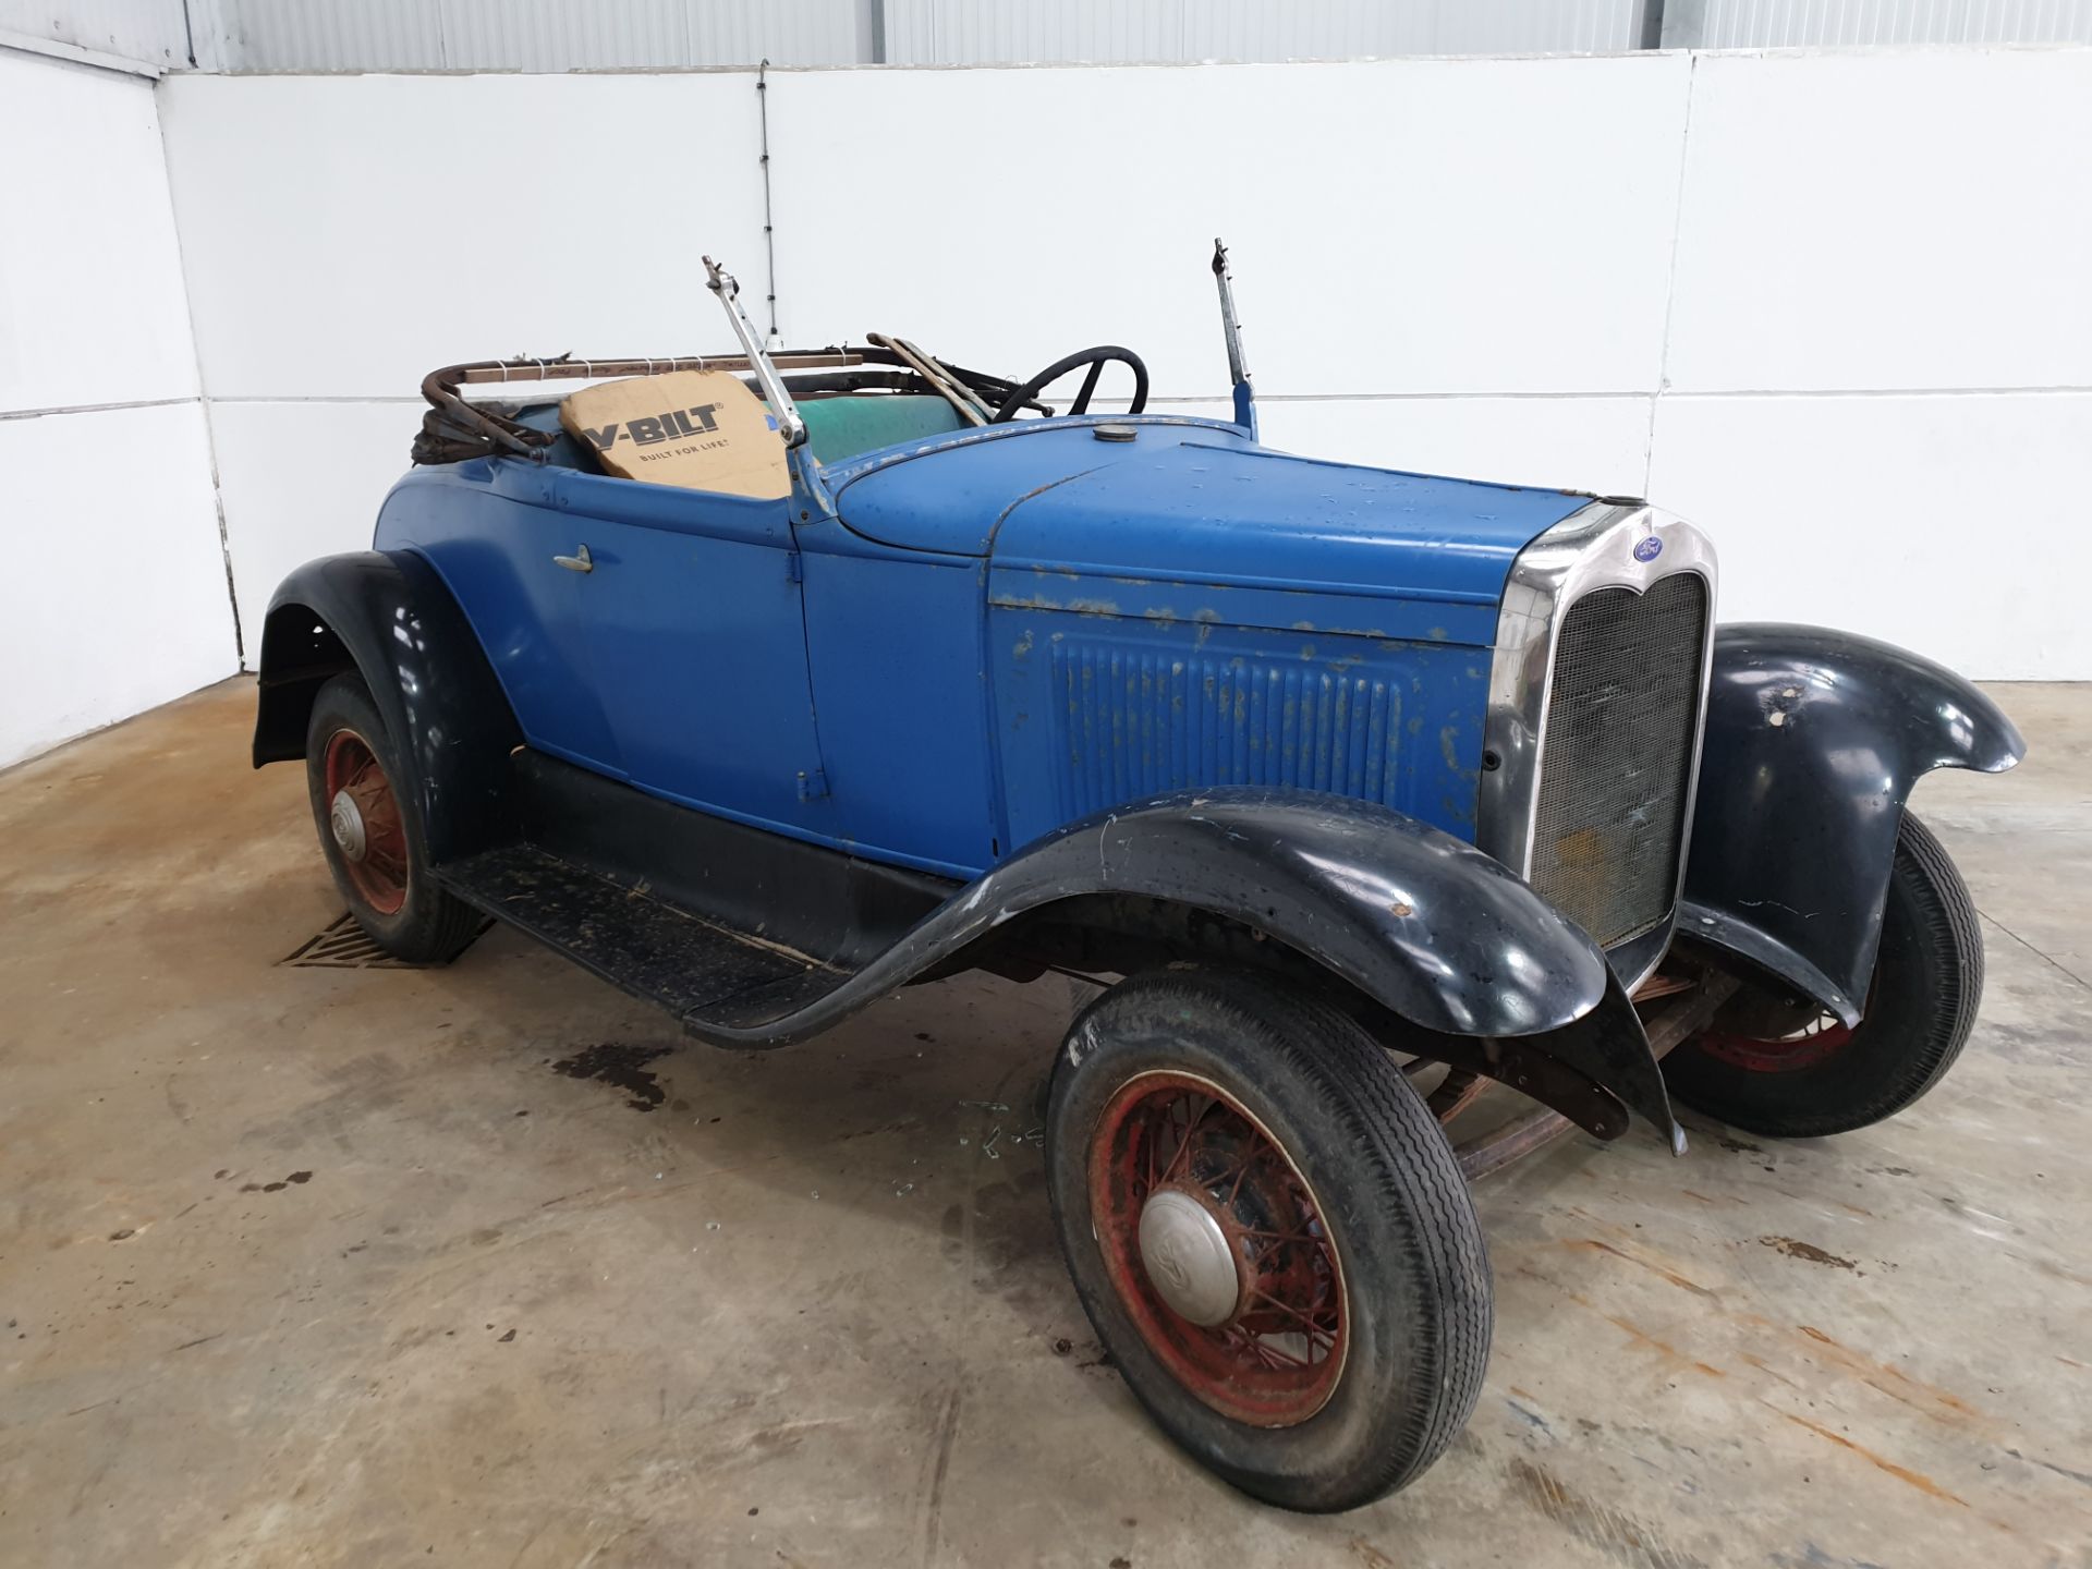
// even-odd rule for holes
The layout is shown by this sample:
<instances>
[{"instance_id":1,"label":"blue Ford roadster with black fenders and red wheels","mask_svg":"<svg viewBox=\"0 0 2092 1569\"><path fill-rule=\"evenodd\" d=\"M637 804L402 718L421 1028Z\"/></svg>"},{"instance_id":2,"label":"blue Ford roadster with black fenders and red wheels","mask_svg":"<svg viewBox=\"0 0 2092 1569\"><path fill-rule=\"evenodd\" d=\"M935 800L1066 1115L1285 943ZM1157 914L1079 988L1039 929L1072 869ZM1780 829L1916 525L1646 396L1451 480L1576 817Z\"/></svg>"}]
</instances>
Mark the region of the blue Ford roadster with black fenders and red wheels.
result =
<instances>
[{"instance_id":1,"label":"blue Ford roadster with black fenders and red wheels","mask_svg":"<svg viewBox=\"0 0 2092 1569\"><path fill-rule=\"evenodd\" d=\"M1113 981L1048 1102L1084 1310L1205 1464L1345 1508L1481 1387L1469 1178L1946 1073L1981 943L1906 799L2021 738L1918 655L1718 628L1638 500L1259 446L1213 272L1232 420L1142 412L1121 347L766 354L715 268L732 360L435 372L374 548L276 594L255 761L383 948L485 912L720 1046ZM1490 1084L1531 1113L1441 1132Z\"/></svg>"}]
</instances>

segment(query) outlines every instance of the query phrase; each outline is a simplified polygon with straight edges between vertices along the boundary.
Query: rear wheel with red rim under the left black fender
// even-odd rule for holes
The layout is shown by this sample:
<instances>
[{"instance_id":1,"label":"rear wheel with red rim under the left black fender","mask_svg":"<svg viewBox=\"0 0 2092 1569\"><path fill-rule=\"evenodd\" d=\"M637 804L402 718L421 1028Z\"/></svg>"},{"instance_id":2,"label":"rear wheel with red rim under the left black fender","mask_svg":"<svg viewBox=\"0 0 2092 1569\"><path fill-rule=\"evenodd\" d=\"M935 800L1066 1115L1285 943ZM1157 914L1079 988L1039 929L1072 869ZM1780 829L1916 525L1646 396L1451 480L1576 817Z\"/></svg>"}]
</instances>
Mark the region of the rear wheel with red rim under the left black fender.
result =
<instances>
[{"instance_id":1,"label":"rear wheel with red rim under the left black fender","mask_svg":"<svg viewBox=\"0 0 2092 1569\"><path fill-rule=\"evenodd\" d=\"M362 676L335 676L305 724L305 789L335 887L379 948L416 964L452 958L479 929L429 877L427 837L385 720Z\"/></svg>"}]
</instances>

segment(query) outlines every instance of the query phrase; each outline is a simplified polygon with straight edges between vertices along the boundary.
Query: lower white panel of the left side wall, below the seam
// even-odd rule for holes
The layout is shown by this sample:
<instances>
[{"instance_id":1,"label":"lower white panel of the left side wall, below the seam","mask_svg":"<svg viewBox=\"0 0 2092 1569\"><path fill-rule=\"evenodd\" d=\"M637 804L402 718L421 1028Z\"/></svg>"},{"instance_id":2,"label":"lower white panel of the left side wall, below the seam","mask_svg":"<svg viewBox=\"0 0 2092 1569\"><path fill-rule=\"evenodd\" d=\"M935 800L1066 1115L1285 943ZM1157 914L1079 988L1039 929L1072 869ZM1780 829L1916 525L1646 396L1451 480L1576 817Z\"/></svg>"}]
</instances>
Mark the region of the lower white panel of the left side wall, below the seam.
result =
<instances>
[{"instance_id":1,"label":"lower white panel of the left side wall, below the seam","mask_svg":"<svg viewBox=\"0 0 2092 1569\"><path fill-rule=\"evenodd\" d=\"M0 418L0 768L238 669L203 408Z\"/></svg>"}]
</instances>

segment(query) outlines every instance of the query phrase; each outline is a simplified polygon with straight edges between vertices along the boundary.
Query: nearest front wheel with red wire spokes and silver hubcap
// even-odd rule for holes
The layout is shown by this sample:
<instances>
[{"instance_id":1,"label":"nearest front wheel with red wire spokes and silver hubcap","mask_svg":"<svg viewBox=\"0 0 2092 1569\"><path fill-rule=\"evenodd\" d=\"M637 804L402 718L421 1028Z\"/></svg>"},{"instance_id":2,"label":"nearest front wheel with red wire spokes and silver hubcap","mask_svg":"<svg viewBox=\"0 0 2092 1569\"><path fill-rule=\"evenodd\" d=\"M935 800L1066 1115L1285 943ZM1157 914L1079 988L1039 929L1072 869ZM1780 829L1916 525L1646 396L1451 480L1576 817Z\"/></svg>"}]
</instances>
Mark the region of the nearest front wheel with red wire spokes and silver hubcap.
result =
<instances>
[{"instance_id":1,"label":"nearest front wheel with red wire spokes and silver hubcap","mask_svg":"<svg viewBox=\"0 0 2092 1569\"><path fill-rule=\"evenodd\" d=\"M1349 1017L1245 975L1125 981L1069 1029L1046 1140L1098 1339L1236 1487L1354 1508L1466 1423L1481 1228L1431 1113Z\"/></svg>"}]
</instances>

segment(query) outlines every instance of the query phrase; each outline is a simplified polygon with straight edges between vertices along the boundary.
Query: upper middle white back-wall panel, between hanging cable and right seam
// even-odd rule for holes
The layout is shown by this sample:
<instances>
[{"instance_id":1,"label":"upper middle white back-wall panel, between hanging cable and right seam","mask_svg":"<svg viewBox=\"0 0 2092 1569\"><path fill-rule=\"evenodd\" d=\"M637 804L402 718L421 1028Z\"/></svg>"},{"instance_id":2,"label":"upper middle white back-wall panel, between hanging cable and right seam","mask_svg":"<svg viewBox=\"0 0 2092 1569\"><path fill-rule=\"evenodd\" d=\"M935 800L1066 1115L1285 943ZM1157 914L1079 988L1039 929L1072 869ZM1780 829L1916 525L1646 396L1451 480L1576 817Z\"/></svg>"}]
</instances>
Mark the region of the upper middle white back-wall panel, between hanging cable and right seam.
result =
<instances>
[{"instance_id":1,"label":"upper middle white back-wall panel, between hanging cable and right seam","mask_svg":"<svg viewBox=\"0 0 2092 1569\"><path fill-rule=\"evenodd\" d=\"M1215 393L1224 234L1268 391L1653 391L1686 75L1646 54L778 77L787 335L900 331L1019 374L1115 341L1157 395ZM872 134L902 107L1054 130L950 138L927 176Z\"/></svg>"}]
</instances>

